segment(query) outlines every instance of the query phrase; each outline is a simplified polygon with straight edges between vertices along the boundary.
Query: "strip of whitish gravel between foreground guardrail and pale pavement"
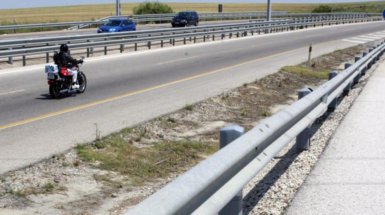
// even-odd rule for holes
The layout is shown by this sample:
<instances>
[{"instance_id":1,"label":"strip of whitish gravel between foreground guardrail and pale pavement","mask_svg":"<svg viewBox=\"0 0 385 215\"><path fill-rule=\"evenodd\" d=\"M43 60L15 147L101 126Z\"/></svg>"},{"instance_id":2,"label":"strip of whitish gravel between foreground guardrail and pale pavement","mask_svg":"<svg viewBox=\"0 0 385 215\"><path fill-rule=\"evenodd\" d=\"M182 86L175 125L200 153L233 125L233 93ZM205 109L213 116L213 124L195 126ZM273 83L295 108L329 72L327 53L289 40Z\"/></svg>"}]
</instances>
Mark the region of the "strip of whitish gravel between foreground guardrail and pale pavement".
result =
<instances>
[{"instance_id":1,"label":"strip of whitish gravel between foreground guardrail and pale pavement","mask_svg":"<svg viewBox=\"0 0 385 215\"><path fill-rule=\"evenodd\" d=\"M285 213L353 101L382 61L377 62L368 70L360 83L350 91L349 96L338 98L339 104L334 113L322 115L313 123L310 150L296 153L295 140L291 141L244 187L243 214L278 215Z\"/></svg>"}]
</instances>

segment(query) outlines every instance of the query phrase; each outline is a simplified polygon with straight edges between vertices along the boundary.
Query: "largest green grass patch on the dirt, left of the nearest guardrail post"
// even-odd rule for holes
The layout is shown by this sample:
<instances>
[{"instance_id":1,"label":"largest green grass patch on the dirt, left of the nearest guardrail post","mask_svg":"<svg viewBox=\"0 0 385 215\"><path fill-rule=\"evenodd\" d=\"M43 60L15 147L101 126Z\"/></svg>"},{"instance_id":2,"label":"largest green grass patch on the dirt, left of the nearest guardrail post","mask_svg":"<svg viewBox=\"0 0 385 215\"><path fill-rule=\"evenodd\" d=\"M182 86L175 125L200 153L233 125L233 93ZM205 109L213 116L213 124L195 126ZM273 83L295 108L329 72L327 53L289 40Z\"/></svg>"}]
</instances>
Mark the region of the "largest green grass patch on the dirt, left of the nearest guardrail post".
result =
<instances>
[{"instance_id":1,"label":"largest green grass patch on the dirt, left of the nearest guardrail post","mask_svg":"<svg viewBox=\"0 0 385 215\"><path fill-rule=\"evenodd\" d=\"M102 138L97 145L78 145L79 159L128 175L132 183L180 172L218 149L216 144L201 142L153 142L148 147L138 148L118 135Z\"/></svg>"}]
</instances>

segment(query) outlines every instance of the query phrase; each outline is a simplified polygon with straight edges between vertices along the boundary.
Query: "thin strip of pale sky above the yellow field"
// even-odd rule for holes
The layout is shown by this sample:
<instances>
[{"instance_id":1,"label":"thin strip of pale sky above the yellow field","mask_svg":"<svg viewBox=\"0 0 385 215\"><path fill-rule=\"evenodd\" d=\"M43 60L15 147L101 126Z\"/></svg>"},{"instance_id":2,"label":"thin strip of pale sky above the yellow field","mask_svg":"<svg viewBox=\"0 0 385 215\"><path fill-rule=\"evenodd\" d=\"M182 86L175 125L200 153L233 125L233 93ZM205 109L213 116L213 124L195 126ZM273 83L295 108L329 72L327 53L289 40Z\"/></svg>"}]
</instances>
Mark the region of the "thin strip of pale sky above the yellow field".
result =
<instances>
[{"instance_id":1,"label":"thin strip of pale sky above the yellow field","mask_svg":"<svg viewBox=\"0 0 385 215\"><path fill-rule=\"evenodd\" d=\"M336 3L336 2L372 2L375 0L272 0L273 3ZM121 3L143 2L142 0L121 0ZM267 0L159 0L159 2L215 2L215 3L263 3ZM116 0L0 0L0 9L49 7L64 5L87 5L116 3Z\"/></svg>"}]
</instances>

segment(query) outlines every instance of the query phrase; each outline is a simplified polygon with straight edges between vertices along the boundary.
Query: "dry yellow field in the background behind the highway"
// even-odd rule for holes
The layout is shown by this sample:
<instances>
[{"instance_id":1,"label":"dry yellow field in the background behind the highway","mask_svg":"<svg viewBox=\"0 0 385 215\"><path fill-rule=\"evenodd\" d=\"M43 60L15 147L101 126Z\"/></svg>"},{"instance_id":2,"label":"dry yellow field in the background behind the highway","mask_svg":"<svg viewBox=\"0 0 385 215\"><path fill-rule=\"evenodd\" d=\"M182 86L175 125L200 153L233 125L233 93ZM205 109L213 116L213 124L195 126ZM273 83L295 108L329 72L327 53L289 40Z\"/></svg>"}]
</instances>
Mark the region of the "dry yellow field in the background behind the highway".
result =
<instances>
[{"instance_id":1,"label":"dry yellow field in the background behind the highway","mask_svg":"<svg viewBox=\"0 0 385 215\"><path fill-rule=\"evenodd\" d=\"M200 13L218 12L218 3L167 3L176 12L181 10L195 10ZM356 3L332 3L333 8L357 7L367 5L370 7L382 7L385 1L381 2L356 2ZM138 3L122 3L122 15L132 14L132 8ZM310 12L320 4L289 4L273 3L273 10L289 12ZM241 11L266 11L264 3L225 3L223 12ZM44 23L44 22L73 22L96 20L102 17L115 15L115 4L80 5L67 7L42 7L0 10L0 23L6 24L15 22L22 23Z\"/></svg>"}]
</instances>

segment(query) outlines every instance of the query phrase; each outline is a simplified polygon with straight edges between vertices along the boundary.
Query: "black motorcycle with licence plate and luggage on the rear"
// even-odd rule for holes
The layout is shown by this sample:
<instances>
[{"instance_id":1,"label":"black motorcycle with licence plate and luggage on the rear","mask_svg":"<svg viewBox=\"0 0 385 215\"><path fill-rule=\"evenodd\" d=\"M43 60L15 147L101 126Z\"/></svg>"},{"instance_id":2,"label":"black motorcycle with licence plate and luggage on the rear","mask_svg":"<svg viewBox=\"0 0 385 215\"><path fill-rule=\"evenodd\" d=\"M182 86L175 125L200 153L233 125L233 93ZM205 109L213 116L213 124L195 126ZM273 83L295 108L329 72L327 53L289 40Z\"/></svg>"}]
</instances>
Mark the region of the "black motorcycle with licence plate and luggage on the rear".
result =
<instances>
[{"instance_id":1,"label":"black motorcycle with licence plate and luggage on the rear","mask_svg":"<svg viewBox=\"0 0 385 215\"><path fill-rule=\"evenodd\" d=\"M85 57L81 58L84 60ZM69 65L69 68L77 70L76 83L79 85L79 88L75 89L72 89L72 76L63 75L59 72L57 65L45 66L45 72L48 75L49 94L52 98L60 98L64 93L84 93L87 86L87 78L80 71L82 65L83 63Z\"/></svg>"}]
</instances>

